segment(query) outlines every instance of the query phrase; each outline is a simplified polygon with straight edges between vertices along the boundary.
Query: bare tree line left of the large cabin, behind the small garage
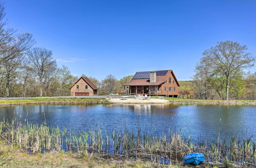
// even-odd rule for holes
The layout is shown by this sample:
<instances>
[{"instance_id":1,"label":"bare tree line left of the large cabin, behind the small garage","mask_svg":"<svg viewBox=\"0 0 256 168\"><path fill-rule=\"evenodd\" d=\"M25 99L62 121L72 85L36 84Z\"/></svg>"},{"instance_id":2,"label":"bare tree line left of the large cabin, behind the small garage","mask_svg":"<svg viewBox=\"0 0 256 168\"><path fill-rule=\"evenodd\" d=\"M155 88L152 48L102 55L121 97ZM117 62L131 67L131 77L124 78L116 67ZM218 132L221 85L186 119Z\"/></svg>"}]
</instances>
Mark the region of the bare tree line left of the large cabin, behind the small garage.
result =
<instances>
[{"instance_id":1,"label":"bare tree line left of the large cabin, behind the small garage","mask_svg":"<svg viewBox=\"0 0 256 168\"><path fill-rule=\"evenodd\" d=\"M32 34L18 34L7 27L5 7L0 4L0 97L70 96L70 87L78 79L67 66L58 67L53 52L34 47ZM120 80L107 75L102 81L89 77L100 95L122 90Z\"/></svg>"}]
</instances>

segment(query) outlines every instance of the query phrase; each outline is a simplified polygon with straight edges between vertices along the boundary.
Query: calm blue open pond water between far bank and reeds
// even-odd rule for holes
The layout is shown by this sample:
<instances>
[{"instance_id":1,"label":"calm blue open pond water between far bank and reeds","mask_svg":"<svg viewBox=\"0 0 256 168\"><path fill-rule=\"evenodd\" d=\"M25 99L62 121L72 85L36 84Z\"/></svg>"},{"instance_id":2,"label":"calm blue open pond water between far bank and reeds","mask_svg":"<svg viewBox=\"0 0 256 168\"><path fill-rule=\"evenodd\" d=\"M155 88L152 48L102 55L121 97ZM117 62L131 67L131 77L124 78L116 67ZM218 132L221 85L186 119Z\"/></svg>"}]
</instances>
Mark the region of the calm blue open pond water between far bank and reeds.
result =
<instances>
[{"instance_id":1,"label":"calm blue open pond water between far bank and reeds","mask_svg":"<svg viewBox=\"0 0 256 168\"><path fill-rule=\"evenodd\" d=\"M256 138L255 106L198 106L198 105L22 105L0 107L0 120L18 118L29 122L46 122L51 126L73 131L98 130L112 133L138 128L153 135L181 131L191 137L211 141L221 136L228 138L252 135ZM221 122L220 122L221 119Z\"/></svg>"}]
</instances>

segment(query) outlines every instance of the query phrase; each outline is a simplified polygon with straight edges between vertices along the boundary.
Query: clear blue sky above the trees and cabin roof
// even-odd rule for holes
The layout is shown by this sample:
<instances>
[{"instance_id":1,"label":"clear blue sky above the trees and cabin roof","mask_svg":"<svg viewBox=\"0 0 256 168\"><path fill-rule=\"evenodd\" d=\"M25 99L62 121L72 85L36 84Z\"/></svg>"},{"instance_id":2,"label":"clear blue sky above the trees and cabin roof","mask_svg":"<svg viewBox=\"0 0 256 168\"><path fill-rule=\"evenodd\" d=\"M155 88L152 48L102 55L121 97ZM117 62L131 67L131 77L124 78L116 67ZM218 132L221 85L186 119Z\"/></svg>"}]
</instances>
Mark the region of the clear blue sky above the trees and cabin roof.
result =
<instances>
[{"instance_id":1,"label":"clear blue sky above the trees and cabin roof","mask_svg":"<svg viewBox=\"0 0 256 168\"><path fill-rule=\"evenodd\" d=\"M8 0L5 7L9 27L33 34L77 76L173 69L188 80L202 52L226 40L256 55L254 0Z\"/></svg>"}]
</instances>

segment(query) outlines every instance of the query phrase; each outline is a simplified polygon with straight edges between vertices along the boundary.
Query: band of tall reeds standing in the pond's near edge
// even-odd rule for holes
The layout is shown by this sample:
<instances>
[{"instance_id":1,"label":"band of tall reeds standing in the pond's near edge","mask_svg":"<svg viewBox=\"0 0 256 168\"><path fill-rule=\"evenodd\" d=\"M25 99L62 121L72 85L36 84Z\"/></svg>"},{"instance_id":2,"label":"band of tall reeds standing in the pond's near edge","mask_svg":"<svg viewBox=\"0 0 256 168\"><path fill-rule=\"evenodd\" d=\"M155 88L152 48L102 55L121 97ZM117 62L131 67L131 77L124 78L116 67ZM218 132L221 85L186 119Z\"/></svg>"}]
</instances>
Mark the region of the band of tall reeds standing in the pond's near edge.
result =
<instances>
[{"instance_id":1,"label":"band of tall reeds standing in the pond's near edge","mask_svg":"<svg viewBox=\"0 0 256 168\"><path fill-rule=\"evenodd\" d=\"M15 119L0 122L0 137L7 144L28 150L32 153L47 151L72 151L77 153L97 153L121 155L125 158L151 159L155 162L167 160L170 163L182 162L183 156L191 152L201 152L206 162L255 164L255 141L251 137L238 139L232 137L229 142L217 141L195 144L190 138L183 139L179 132L170 132L154 136L146 132L133 131L107 132L102 130L79 131L66 128L49 127L46 123L22 123Z\"/></svg>"}]
</instances>

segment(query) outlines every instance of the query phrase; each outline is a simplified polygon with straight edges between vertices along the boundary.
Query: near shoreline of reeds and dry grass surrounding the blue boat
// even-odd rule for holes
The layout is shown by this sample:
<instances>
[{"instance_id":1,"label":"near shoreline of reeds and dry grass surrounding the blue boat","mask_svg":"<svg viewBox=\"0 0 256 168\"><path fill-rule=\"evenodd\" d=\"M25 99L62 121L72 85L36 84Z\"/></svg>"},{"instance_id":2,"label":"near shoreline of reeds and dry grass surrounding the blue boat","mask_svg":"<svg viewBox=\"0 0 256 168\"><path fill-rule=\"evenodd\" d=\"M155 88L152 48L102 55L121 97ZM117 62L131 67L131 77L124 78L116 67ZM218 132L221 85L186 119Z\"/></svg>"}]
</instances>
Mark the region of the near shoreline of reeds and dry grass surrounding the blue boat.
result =
<instances>
[{"instance_id":1,"label":"near shoreline of reeds and dry grass surrounding the blue boat","mask_svg":"<svg viewBox=\"0 0 256 168\"><path fill-rule=\"evenodd\" d=\"M191 165L184 164L183 157L194 152L203 153L205 156L205 161L199 167L255 166L255 142L251 141L249 136L241 140L242 143L249 145L237 148L236 144L240 144L238 139L227 141L230 146L226 146L221 140L221 143L193 143L189 139L186 141L179 132L163 136L138 132L139 135L136 136L133 131L122 133L113 130L113 133L102 136L99 129L82 131L80 135L75 135L71 130L67 132L65 129L47 126L46 123L37 125L22 123L15 119L0 122L0 130L0 165L6 167L62 167L67 164L70 167L109 167L111 164L115 166L110 167L134 167L136 164L140 165L136 167L187 167ZM72 138L69 134L72 134ZM119 144L120 142L123 144ZM134 151L137 152L136 155ZM240 161L242 158L249 161L244 164Z\"/></svg>"}]
</instances>

